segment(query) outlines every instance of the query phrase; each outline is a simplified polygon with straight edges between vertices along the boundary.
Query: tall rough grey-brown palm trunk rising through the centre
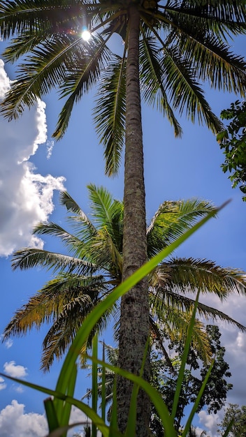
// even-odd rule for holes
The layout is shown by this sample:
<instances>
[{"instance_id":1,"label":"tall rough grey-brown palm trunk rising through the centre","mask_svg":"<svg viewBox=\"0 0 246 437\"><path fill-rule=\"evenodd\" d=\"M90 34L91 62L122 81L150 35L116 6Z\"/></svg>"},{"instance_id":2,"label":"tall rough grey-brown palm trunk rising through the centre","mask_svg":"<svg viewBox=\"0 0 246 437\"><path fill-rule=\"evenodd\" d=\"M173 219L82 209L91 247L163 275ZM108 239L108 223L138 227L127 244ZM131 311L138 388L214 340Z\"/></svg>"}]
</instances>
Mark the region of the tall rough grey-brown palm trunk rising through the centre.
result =
<instances>
[{"instance_id":1,"label":"tall rough grey-brown palm trunk rising through the centre","mask_svg":"<svg viewBox=\"0 0 246 437\"><path fill-rule=\"evenodd\" d=\"M129 47L126 61L126 145L124 167L124 238L123 280L147 260L145 184L143 177L143 133L139 86L139 22L137 8L129 6ZM140 281L121 303L119 365L139 375L149 336L149 299L147 279ZM150 357L145 362L145 379L149 379ZM124 431L129 414L132 385L117 380L118 425ZM143 392L138 396L138 437L148 433L150 402Z\"/></svg>"}]
</instances>

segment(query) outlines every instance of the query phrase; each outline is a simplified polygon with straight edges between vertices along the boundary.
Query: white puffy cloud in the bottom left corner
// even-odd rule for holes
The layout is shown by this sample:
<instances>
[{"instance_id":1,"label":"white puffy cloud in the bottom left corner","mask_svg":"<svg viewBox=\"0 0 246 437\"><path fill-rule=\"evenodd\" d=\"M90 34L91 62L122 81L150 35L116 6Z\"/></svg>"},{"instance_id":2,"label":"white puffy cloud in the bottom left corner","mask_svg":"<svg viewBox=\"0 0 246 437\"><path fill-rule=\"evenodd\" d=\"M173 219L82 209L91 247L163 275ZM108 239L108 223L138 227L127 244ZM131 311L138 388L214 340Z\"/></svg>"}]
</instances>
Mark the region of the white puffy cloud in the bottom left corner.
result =
<instances>
[{"instance_id":1,"label":"white puffy cloud in the bottom left corner","mask_svg":"<svg viewBox=\"0 0 246 437\"><path fill-rule=\"evenodd\" d=\"M15 400L0 412L1 437L43 437L47 432L45 416L24 413L24 405Z\"/></svg>"}]
</instances>

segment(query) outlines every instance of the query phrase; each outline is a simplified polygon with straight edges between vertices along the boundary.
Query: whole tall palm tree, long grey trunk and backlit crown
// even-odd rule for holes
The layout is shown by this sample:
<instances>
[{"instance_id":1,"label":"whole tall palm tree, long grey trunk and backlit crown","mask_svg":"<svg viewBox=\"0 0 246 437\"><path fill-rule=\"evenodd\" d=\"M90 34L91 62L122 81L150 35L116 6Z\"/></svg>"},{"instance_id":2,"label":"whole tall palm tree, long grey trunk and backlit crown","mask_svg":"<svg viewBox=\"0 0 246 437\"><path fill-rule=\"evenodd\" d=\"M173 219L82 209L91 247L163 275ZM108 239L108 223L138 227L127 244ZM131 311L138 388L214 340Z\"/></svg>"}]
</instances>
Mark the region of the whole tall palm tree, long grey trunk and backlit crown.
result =
<instances>
[{"instance_id":1,"label":"whole tall palm tree, long grey trunk and backlit crown","mask_svg":"<svg viewBox=\"0 0 246 437\"><path fill-rule=\"evenodd\" d=\"M221 131L199 81L245 94L245 62L229 52L226 40L245 32L245 16L244 0L0 1L1 38L13 36L5 57L22 59L17 81L3 102L7 117L17 117L36 97L58 88L67 98L54 133L61 138L73 104L101 77L95 116L108 174L117 170L125 142L123 279L147 260L140 87L143 100L157 104L176 135L181 128L175 110ZM82 40L83 26L92 34L89 43ZM124 40L122 56L107 46L115 33ZM133 373L142 364L148 317L145 279L122 298L119 362ZM146 378L149 368L148 357ZM128 381L119 381L118 422L123 431L131 390ZM141 437L147 433L147 405L141 397Z\"/></svg>"}]
</instances>

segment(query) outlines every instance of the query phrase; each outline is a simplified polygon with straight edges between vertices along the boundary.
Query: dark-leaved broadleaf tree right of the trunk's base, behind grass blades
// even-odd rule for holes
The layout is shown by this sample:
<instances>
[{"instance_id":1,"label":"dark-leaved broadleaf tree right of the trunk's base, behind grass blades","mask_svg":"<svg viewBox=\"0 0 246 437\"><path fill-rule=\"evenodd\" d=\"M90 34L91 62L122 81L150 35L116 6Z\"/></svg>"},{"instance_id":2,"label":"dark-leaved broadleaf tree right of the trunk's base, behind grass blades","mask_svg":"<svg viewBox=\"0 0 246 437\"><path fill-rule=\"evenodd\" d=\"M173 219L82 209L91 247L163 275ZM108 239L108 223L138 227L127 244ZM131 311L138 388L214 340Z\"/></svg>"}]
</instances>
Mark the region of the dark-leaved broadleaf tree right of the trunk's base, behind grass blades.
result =
<instances>
[{"instance_id":1,"label":"dark-leaved broadleaf tree right of the trunk's base, behind grass blades","mask_svg":"<svg viewBox=\"0 0 246 437\"><path fill-rule=\"evenodd\" d=\"M225 349L222 348L219 337L219 328L213 325L207 325L206 332L210 341L213 356L215 361L210 373L210 378L206 384L203 396L198 404L197 412L203 406L208 406L210 413L216 413L220 410L226 401L226 394L231 390L232 385L229 384L225 378L229 378L229 365L224 361ZM159 354L152 355L152 385L157 387L161 397L164 399L168 409L171 411L173 406L173 397L175 393L175 386L178 378L178 370L180 368L181 357L183 354L182 343L178 341L169 342L168 346L173 356L173 370L167 365L163 358L159 358ZM176 353L176 355L174 355ZM189 347L189 355L187 357L187 366L184 371L182 380L182 390L180 392L180 399L178 403L177 414L175 417L175 427L180 429L182 417L184 417L184 408L195 401L202 382L207 374L209 366L204 361L203 357L197 350ZM199 376L200 375L200 376ZM154 409L152 409L151 429L154 435L164 436L164 429L161 427L161 422Z\"/></svg>"}]
</instances>

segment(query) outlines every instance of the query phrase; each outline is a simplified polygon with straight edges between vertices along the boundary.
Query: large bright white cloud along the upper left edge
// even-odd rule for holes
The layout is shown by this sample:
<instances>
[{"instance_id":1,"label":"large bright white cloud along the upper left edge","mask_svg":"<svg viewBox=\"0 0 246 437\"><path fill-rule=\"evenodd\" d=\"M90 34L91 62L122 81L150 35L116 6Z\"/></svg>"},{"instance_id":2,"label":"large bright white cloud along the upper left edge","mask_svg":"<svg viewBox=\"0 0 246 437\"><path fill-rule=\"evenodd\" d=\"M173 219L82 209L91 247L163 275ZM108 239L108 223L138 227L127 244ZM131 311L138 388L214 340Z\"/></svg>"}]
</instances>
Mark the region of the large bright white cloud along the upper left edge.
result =
<instances>
[{"instance_id":1,"label":"large bright white cloud along the upper left edge","mask_svg":"<svg viewBox=\"0 0 246 437\"><path fill-rule=\"evenodd\" d=\"M10 86L0 59L0 101ZM47 140L45 103L37 101L17 120L1 116L0 132L0 256L8 256L22 246L43 247L31 231L52 213L53 192L64 189L65 179L40 175L29 161ZM52 145L47 144L48 157Z\"/></svg>"}]
</instances>

